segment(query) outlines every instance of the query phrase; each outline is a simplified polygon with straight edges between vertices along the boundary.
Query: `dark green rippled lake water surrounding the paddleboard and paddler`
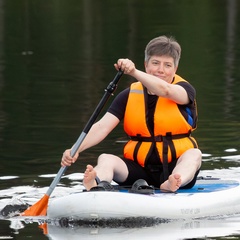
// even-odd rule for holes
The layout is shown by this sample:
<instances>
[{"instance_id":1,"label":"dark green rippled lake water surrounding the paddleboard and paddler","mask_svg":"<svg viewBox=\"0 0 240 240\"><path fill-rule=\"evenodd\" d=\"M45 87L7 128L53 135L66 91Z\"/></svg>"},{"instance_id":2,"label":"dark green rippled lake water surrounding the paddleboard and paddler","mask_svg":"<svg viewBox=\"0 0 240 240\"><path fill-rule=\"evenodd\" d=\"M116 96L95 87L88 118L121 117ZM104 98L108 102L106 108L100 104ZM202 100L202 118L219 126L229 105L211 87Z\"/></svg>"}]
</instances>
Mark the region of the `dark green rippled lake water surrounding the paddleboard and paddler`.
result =
<instances>
[{"instance_id":1,"label":"dark green rippled lake water surrounding the paddleboard and paddler","mask_svg":"<svg viewBox=\"0 0 240 240\"><path fill-rule=\"evenodd\" d=\"M239 179L239 5L237 0L0 0L0 209L15 198L35 203L43 196L62 152L75 143L115 76L113 64L127 57L143 70L144 48L159 35L179 41L178 74L197 91L194 136L203 152L201 175ZM123 76L115 94L132 81ZM95 164L103 152L121 156L125 140L119 126L82 153L53 195L82 189L86 164ZM74 239L75 233L83 239L122 239L131 233L134 239L149 232L157 238L159 229L168 234L165 239L172 229L172 239L186 239L192 230L192 239L240 239L239 220L162 225L145 232L57 231L62 239ZM37 225L0 220L0 239L61 239L56 229L48 236ZM204 229L204 236L196 229Z\"/></svg>"}]
</instances>

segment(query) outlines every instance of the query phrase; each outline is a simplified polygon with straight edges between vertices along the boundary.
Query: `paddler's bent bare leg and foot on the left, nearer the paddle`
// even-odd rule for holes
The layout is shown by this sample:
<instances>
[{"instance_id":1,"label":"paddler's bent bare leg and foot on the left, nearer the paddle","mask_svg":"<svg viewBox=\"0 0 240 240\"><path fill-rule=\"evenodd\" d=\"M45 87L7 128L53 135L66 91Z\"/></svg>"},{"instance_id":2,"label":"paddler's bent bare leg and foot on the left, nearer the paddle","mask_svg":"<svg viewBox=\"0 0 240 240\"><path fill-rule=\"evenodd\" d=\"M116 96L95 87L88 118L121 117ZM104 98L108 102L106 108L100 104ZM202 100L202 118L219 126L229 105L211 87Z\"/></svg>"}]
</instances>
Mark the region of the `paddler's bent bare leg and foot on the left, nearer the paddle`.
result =
<instances>
[{"instance_id":1,"label":"paddler's bent bare leg and foot on the left, nearer the paddle","mask_svg":"<svg viewBox=\"0 0 240 240\"><path fill-rule=\"evenodd\" d=\"M128 169L119 157L112 154L101 154L95 168L87 165L83 178L83 185L87 190L97 185L95 180L96 176L98 176L101 181L111 182L114 178L119 182L124 182L128 176Z\"/></svg>"}]
</instances>

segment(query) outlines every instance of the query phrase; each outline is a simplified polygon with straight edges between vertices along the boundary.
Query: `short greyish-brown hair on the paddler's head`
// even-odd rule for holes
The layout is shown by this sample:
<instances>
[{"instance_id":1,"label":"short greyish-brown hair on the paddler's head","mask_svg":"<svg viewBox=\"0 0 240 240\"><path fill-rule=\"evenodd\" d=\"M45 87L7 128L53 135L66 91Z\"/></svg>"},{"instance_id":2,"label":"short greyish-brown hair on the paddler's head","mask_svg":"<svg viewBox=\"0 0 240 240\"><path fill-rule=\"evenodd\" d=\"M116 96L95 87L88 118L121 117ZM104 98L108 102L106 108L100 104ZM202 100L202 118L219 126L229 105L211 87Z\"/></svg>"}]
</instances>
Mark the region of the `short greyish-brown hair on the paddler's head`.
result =
<instances>
[{"instance_id":1,"label":"short greyish-brown hair on the paddler's head","mask_svg":"<svg viewBox=\"0 0 240 240\"><path fill-rule=\"evenodd\" d=\"M145 48L145 61L152 56L170 56L178 66L181 56L181 46L173 37L160 36L152 39Z\"/></svg>"}]
</instances>

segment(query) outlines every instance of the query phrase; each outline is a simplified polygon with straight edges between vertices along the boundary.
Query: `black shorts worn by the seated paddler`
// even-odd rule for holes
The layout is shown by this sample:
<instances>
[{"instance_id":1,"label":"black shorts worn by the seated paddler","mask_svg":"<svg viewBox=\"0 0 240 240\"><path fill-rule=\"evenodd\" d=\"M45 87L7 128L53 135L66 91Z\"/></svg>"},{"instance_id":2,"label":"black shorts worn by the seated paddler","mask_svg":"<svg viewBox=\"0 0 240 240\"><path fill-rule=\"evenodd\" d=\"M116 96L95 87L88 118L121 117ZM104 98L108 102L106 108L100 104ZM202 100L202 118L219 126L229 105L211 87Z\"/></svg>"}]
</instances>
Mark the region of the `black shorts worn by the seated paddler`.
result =
<instances>
[{"instance_id":1,"label":"black shorts worn by the seated paddler","mask_svg":"<svg viewBox=\"0 0 240 240\"><path fill-rule=\"evenodd\" d=\"M128 159L122 159L122 160L127 165L128 177L125 182L117 182L115 180L119 185L131 186L136 180L144 179L149 185L159 188L160 185L164 182L162 165L145 168L132 160L128 160ZM176 163L177 163L177 160L168 164L168 171L170 174L175 168ZM198 173L199 173L199 170L196 172L194 179L190 183L188 183L186 186L181 188L183 189L192 188L196 183Z\"/></svg>"}]
</instances>

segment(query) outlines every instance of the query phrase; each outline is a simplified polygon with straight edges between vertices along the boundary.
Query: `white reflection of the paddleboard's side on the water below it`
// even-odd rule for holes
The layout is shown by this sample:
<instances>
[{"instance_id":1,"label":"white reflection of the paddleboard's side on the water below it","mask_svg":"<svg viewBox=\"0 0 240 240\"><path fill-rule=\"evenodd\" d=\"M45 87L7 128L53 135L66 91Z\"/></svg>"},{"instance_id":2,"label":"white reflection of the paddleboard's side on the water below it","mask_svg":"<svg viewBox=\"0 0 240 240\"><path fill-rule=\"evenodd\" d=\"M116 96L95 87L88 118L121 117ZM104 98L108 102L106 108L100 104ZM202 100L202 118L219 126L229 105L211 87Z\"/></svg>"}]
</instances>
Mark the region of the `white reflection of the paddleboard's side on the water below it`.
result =
<instances>
[{"instance_id":1,"label":"white reflection of the paddleboard's side on the water below it","mask_svg":"<svg viewBox=\"0 0 240 240\"><path fill-rule=\"evenodd\" d=\"M72 229L48 225L49 239L122 239L124 237L130 239L193 239L205 236L222 237L226 235L234 235L239 233L239 217L228 220L225 224L224 220L193 220L193 221L173 221L170 223L161 223L153 227L143 228L99 228L78 227ZM216 239L216 238L214 238Z\"/></svg>"}]
</instances>

